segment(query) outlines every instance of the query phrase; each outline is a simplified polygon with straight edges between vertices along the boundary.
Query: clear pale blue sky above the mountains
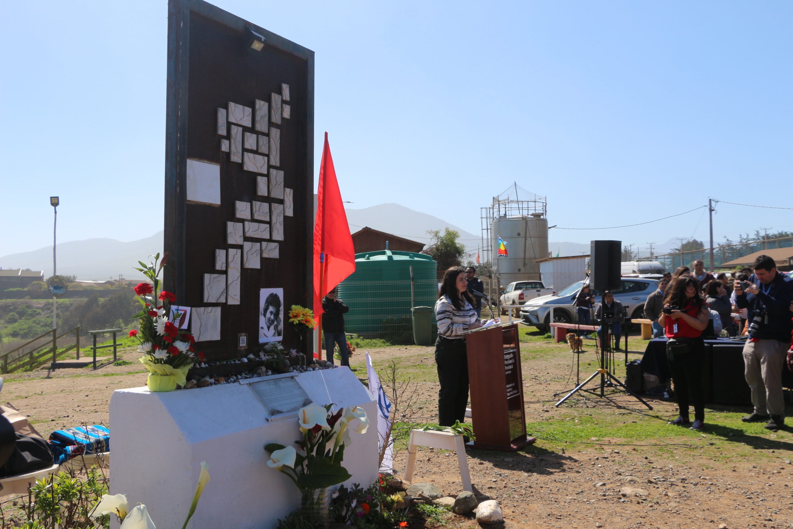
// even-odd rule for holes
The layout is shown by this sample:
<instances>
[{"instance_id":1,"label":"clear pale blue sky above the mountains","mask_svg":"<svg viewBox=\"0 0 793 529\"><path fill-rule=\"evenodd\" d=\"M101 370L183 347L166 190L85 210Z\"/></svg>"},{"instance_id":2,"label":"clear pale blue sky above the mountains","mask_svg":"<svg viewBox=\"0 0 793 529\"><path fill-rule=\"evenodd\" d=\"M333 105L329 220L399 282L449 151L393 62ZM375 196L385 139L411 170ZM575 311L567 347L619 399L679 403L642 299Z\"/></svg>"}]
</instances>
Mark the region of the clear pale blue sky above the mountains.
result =
<instances>
[{"instance_id":1,"label":"clear pale blue sky above the mountains","mask_svg":"<svg viewBox=\"0 0 793 529\"><path fill-rule=\"evenodd\" d=\"M316 52L315 167L327 130L351 207L478 233L512 181L571 228L793 206L791 2L214 3ZM165 0L4 3L0 255L51 243L51 194L62 242L162 229L166 43ZM707 214L550 239L676 236L706 239Z\"/></svg>"}]
</instances>

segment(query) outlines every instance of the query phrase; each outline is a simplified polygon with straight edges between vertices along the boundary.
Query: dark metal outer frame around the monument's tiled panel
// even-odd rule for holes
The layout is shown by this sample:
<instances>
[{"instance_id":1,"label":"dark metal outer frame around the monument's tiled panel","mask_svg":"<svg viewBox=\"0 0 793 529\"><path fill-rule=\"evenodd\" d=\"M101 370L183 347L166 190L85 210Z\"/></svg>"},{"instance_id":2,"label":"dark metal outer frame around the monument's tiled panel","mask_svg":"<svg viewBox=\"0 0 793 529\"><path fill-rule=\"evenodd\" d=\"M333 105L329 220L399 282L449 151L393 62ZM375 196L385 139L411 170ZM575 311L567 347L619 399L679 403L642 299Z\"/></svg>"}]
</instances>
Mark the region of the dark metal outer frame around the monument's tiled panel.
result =
<instances>
[{"instance_id":1,"label":"dark metal outer frame around the monument's tiled panel","mask_svg":"<svg viewBox=\"0 0 793 529\"><path fill-rule=\"evenodd\" d=\"M308 107L306 126L306 174L305 189L310 190L301 197L311 221L306 224L305 255L308 256L305 278L306 291L311 301L314 291L313 278L313 233L314 233L314 52L267 31L228 11L213 6L204 0L168 0L168 47L167 47L167 102L165 132L165 214L163 242L168 241L163 251L168 252L169 268L163 274L163 288L170 290L178 299L185 296L185 259L178 252L186 246L186 164L187 164L187 88L190 52L190 13L195 11L203 17L245 32L250 27L265 37L267 46L297 56L306 61L306 100ZM168 191L173 193L169 195ZM169 202L167 197L173 197Z\"/></svg>"}]
</instances>

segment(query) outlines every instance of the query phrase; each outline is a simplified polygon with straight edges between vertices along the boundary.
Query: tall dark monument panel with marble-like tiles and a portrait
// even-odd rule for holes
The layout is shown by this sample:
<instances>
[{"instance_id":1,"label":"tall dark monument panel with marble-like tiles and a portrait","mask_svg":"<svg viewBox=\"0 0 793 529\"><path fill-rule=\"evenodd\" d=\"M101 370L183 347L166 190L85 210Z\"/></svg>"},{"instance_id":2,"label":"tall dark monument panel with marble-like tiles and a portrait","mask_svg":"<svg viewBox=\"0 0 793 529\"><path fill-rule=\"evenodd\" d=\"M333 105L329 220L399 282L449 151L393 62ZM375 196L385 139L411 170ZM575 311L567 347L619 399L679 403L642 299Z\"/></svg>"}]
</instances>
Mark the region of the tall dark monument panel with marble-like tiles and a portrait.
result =
<instances>
[{"instance_id":1,"label":"tall dark monument panel with marble-like tiles and a portrait","mask_svg":"<svg viewBox=\"0 0 793 529\"><path fill-rule=\"evenodd\" d=\"M314 53L201 0L168 2L164 288L212 359L282 341L312 300ZM301 351L305 352L305 351Z\"/></svg>"}]
</instances>

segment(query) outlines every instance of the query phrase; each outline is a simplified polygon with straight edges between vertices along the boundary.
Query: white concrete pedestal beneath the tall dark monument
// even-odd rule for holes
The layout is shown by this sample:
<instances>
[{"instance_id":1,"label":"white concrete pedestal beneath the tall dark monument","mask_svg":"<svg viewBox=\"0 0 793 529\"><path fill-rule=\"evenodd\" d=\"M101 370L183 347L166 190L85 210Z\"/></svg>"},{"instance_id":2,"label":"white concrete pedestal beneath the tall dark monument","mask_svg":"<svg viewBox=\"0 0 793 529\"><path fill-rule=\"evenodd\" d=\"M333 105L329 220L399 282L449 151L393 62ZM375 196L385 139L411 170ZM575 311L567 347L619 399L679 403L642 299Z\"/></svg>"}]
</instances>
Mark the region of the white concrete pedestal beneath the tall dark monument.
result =
<instances>
[{"instance_id":1,"label":"white concrete pedestal beneath the tall dark monument","mask_svg":"<svg viewBox=\"0 0 793 529\"><path fill-rule=\"evenodd\" d=\"M266 380L262 379L262 380ZM360 405L366 434L352 433L343 466L346 485L377 479L377 403L347 367L298 374L316 404ZM110 399L113 470L110 493L147 506L157 527L181 527L201 470L209 484L188 529L268 529L297 509L300 494L289 477L266 466L266 443L293 445L297 413L270 417L249 385L151 393L120 389ZM294 445L293 445L294 446Z\"/></svg>"}]
</instances>

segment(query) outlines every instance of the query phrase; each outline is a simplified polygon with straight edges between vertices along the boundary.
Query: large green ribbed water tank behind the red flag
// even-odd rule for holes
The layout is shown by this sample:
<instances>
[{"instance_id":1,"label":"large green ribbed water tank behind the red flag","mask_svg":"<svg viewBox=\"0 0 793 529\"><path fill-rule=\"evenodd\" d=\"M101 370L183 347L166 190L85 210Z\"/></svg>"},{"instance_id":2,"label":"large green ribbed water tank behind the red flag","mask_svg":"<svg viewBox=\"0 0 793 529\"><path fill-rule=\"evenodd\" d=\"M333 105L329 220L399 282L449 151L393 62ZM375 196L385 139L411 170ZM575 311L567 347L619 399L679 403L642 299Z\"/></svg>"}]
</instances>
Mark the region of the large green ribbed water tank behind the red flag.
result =
<instances>
[{"instance_id":1,"label":"large green ribbed water tank behind the red flag","mask_svg":"<svg viewBox=\"0 0 793 529\"><path fill-rule=\"evenodd\" d=\"M355 254L354 273L339 285L339 298L350 308L344 330L390 343L413 343L411 309L435 306L437 270L435 259L410 251Z\"/></svg>"}]
</instances>

